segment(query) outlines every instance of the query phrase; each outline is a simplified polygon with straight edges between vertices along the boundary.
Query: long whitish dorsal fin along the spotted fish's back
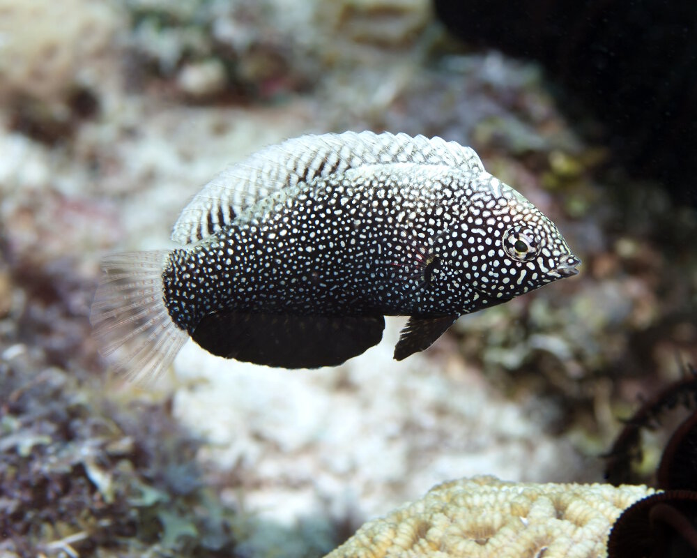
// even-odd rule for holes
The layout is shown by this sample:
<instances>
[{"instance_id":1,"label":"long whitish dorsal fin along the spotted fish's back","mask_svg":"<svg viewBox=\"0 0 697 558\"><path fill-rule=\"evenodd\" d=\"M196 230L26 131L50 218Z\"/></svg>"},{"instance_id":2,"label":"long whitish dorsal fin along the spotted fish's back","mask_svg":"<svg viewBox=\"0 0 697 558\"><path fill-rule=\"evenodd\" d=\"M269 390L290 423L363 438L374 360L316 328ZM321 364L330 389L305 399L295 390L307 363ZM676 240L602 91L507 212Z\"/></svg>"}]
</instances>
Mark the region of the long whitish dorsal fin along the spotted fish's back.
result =
<instances>
[{"instance_id":1,"label":"long whitish dorsal fin along the spotted fish's back","mask_svg":"<svg viewBox=\"0 0 697 558\"><path fill-rule=\"evenodd\" d=\"M303 135L268 146L215 176L184 208L171 238L182 244L199 241L278 190L362 165L390 163L484 170L473 149L440 137L387 132Z\"/></svg>"}]
</instances>

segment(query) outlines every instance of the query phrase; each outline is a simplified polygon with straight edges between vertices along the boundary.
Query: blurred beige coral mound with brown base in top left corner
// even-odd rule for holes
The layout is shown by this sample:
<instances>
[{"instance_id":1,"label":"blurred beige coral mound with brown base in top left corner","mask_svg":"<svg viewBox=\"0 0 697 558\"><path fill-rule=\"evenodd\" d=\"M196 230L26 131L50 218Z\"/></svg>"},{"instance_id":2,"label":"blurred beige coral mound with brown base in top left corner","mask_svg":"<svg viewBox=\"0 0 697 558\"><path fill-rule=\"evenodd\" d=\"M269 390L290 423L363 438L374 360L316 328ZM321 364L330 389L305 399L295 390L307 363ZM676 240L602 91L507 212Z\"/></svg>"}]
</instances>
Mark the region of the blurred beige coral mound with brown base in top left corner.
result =
<instances>
[{"instance_id":1,"label":"blurred beige coral mound with brown base in top left corner","mask_svg":"<svg viewBox=\"0 0 697 558\"><path fill-rule=\"evenodd\" d=\"M12 125L53 142L92 116L118 84L123 26L112 2L1 1L0 102Z\"/></svg>"}]
</instances>

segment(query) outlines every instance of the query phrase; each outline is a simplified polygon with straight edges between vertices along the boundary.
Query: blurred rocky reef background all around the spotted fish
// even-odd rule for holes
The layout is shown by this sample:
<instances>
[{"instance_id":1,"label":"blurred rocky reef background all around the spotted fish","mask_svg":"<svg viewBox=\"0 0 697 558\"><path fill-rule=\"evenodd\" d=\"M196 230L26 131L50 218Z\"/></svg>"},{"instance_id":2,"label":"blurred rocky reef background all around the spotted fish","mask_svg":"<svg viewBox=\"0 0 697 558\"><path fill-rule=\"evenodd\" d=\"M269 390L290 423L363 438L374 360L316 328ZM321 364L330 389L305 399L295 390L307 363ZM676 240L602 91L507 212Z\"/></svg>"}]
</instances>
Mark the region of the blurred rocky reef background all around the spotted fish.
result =
<instances>
[{"instance_id":1,"label":"blurred rocky reef background all around the spotted fish","mask_svg":"<svg viewBox=\"0 0 697 558\"><path fill-rule=\"evenodd\" d=\"M697 363L697 5L560 6L0 0L0 555L314 557L452 478L602 481L619 419ZM395 318L337 368L190 343L157 384L114 376L100 258L344 130L473 146L581 273L401 363Z\"/></svg>"}]
</instances>

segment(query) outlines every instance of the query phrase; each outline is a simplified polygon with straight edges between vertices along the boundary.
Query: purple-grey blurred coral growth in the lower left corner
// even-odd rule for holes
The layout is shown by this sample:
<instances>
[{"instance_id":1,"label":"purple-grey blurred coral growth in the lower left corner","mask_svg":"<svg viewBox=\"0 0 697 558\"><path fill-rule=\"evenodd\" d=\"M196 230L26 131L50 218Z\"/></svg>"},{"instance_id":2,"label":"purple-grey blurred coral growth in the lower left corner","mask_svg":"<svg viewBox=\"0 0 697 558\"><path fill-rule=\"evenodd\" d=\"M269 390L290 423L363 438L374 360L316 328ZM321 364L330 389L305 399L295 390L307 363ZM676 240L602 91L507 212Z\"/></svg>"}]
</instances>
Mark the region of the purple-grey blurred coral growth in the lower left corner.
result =
<instances>
[{"instance_id":1,"label":"purple-grey blurred coral growth in the lower left corner","mask_svg":"<svg viewBox=\"0 0 697 558\"><path fill-rule=\"evenodd\" d=\"M15 256L2 247L0 555L231 552L245 520L206 487L166 399L106 398L90 375L91 281Z\"/></svg>"}]
</instances>

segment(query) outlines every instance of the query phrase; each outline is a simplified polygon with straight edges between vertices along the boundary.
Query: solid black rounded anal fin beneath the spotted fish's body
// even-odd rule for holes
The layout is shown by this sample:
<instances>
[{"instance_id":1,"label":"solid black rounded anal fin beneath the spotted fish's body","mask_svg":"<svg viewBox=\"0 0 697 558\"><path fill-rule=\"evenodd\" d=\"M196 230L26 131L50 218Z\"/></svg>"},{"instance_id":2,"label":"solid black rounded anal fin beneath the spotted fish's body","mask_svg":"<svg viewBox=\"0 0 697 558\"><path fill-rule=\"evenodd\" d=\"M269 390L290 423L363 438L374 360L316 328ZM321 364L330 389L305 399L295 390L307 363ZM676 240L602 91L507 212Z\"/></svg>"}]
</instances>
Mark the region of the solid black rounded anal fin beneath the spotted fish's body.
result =
<instances>
[{"instance_id":1,"label":"solid black rounded anal fin beneath the spotted fish's body","mask_svg":"<svg viewBox=\"0 0 697 558\"><path fill-rule=\"evenodd\" d=\"M344 363L380 342L385 319L215 312L191 337L226 359L278 366L319 368Z\"/></svg>"}]
</instances>

